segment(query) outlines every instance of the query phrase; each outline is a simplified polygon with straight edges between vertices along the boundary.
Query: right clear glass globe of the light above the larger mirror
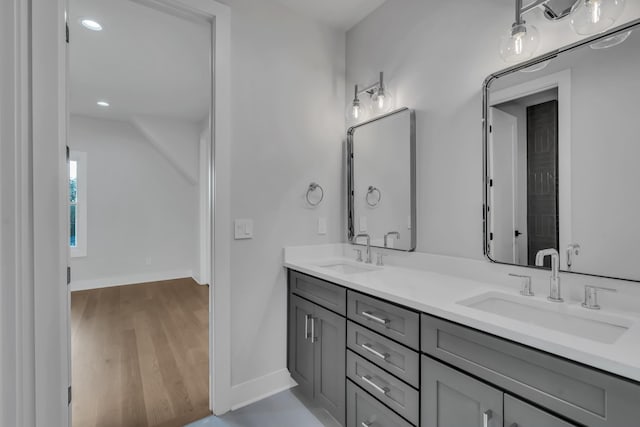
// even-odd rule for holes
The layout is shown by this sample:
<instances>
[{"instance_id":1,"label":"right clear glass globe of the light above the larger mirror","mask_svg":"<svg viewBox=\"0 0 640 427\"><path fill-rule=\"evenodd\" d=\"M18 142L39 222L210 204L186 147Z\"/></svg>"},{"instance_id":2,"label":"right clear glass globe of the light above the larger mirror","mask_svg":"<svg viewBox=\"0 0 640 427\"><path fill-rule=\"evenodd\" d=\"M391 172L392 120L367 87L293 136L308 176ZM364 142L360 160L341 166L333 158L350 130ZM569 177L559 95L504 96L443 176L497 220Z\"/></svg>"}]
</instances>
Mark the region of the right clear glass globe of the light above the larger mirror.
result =
<instances>
[{"instance_id":1,"label":"right clear glass globe of the light above the larger mirror","mask_svg":"<svg viewBox=\"0 0 640 427\"><path fill-rule=\"evenodd\" d=\"M588 36L611 28L622 15L625 0L580 0L571 13L571 28Z\"/></svg>"}]
</instances>

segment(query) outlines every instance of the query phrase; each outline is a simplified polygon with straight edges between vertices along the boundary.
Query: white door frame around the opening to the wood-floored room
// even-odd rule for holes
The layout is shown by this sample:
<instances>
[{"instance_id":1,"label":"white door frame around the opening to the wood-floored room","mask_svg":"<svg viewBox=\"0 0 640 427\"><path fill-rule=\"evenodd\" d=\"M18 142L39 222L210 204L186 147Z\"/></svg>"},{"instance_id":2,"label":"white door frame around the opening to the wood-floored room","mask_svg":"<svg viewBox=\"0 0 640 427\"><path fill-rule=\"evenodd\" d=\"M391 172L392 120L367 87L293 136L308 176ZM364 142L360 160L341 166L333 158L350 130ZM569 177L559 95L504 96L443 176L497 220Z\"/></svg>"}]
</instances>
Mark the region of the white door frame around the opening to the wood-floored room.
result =
<instances>
[{"instance_id":1,"label":"white door frame around the opening to the wood-floored room","mask_svg":"<svg viewBox=\"0 0 640 427\"><path fill-rule=\"evenodd\" d=\"M215 0L147 0L205 17L212 23L212 147L213 182L210 283L210 407L216 414L231 407L230 353L230 181L231 181L231 10ZM15 0L25 6L29 0ZM66 0L30 0L32 47L31 90L20 94L32 105L33 185L33 285L25 282L25 299L32 290L33 307L16 317L18 327L33 321L33 364L27 367L34 384L27 386L21 410L34 422L24 426L69 425L69 328L66 286L67 266L67 52L65 38ZM28 50L27 50L28 52ZM31 154L31 153L29 153ZM24 204L30 207L30 200ZM30 221L29 221L30 222ZM29 260L25 257L25 262ZM215 262L215 269L213 268ZM31 320L33 319L33 320ZM27 354L27 356L29 356ZM25 363L29 363L29 360ZM32 368L32 369L31 369ZM3 366L4 371L4 366ZM35 391L37 390L37 394ZM29 396L33 407L28 407ZM20 398L20 396L18 396Z\"/></svg>"}]
</instances>

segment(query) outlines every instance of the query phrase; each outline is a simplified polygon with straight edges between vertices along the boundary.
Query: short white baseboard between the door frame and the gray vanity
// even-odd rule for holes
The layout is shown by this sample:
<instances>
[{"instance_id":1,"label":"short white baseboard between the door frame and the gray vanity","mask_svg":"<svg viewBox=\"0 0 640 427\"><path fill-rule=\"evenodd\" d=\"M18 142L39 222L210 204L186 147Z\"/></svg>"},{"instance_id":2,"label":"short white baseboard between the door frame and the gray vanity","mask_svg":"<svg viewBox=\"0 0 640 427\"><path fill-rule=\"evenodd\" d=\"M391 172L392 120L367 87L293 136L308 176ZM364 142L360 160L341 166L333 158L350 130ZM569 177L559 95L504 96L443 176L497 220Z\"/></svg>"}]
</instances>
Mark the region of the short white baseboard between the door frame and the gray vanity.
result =
<instances>
[{"instance_id":1,"label":"short white baseboard between the door frame and the gray vanity","mask_svg":"<svg viewBox=\"0 0 640 427\"><path fill-rule=\"evenodd\" d=\"M235 411L258 400L288 390L295 385L296 382L291 378L287 369L234 385L231 387L231 410Z\"/></svg>"}]
</instances>

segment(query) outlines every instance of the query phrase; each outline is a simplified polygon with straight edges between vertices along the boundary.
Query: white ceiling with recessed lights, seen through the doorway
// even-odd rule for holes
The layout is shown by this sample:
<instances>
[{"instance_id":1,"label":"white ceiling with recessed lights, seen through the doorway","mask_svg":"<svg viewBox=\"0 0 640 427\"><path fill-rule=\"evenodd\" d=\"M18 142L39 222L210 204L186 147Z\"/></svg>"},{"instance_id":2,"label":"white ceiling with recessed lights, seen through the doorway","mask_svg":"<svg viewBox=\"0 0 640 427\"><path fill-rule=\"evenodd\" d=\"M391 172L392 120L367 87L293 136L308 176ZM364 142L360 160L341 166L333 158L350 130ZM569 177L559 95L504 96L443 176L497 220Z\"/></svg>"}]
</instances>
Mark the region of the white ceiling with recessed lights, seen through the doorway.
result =
<instances>
[{"instance_id":1,"label":"white ceiling with recessed lights, seen through the doorway","mask_svg":"<svg viewBox=\"0 0 640 427\"><path fill-rule=\"evenodd\" d=\"M70 0L70 111L200 121L209 110L210 27L132 0ZM103 30L85 29L82 18ZM106 100L110 107L96 105Z\"/></svg>"}]
</instances>

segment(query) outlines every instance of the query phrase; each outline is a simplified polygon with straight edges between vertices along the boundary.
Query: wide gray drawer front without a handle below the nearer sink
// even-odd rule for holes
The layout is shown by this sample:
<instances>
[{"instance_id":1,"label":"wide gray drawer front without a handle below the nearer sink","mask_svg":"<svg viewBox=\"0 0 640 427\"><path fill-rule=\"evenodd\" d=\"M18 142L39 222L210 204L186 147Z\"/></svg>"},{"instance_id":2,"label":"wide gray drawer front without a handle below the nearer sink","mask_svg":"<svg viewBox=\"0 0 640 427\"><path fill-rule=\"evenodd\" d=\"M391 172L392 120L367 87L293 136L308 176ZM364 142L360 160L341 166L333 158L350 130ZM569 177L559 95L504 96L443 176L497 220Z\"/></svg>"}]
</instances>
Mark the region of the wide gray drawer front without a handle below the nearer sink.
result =
<instances>
[{"instance_id":1,"label":"wide gray drawer front without a handle below the nearer sink","mask_svg":"<svg viewBox=\"0 0 640 427\"><path fill-rule=\"evenodd\" d=\"M640 385L455 323L423 315L422 351L580 424L640 419Z\"/></svg>"}]
</instances>

